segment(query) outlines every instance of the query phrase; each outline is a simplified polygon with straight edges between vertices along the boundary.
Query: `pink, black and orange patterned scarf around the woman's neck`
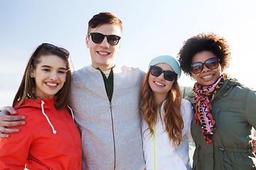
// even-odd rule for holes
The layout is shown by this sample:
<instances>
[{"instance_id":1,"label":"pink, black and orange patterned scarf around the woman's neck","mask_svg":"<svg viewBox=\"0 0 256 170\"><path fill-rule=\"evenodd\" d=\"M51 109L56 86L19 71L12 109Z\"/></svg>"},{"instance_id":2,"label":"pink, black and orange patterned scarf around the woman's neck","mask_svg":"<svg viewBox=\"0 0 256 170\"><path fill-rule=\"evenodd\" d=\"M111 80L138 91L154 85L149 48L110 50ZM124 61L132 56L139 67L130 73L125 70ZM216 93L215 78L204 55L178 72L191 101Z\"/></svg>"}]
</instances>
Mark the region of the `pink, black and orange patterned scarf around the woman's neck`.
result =
<instances>
[{"instance_id":1,"label":"pink, black and orange patterned scarf around the woman's neck","mask_svg":"<svg viewBox=\"0 0 256 170\"><path fill-rule=\"evenodd\" d=\"M225 79L228 79L228 74L224 73L213 85L202 86L196 83L193 87L193 94L196 96L195 123L201 125L203 137L208 144L211 142L210 139L213 136L213 130L215 130L215 120L213 120L213 116L210 113L210 101L213 101L215 94L223 85Z\"/></svg>"}]
</instances>

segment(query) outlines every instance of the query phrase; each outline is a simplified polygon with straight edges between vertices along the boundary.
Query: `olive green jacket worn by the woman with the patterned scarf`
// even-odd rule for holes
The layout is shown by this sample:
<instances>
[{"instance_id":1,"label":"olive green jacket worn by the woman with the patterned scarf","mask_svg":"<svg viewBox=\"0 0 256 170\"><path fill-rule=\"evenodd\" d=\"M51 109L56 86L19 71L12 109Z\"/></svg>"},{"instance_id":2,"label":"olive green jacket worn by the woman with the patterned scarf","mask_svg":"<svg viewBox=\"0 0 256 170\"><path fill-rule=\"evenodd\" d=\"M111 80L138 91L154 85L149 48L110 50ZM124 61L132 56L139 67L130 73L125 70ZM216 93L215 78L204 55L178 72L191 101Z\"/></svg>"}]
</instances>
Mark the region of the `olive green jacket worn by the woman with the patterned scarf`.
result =
<instances>
[{"instance_id":1,"label":"olive green jacket worn by the woman with the patterned scarf","mask_svg":"<svg viewBox=\"0 0 256 170\"><path fill-rule=\"evenodd\" d=\"M189 94L194 108L196 101ZM211 101L216 129L212 142L206 143L200 125L191 123L196 143L193 169L255 169L256 158L251 152L252 127L256 128L256 94L235 79L226 79Z\"/></svg>"}]
</instances>

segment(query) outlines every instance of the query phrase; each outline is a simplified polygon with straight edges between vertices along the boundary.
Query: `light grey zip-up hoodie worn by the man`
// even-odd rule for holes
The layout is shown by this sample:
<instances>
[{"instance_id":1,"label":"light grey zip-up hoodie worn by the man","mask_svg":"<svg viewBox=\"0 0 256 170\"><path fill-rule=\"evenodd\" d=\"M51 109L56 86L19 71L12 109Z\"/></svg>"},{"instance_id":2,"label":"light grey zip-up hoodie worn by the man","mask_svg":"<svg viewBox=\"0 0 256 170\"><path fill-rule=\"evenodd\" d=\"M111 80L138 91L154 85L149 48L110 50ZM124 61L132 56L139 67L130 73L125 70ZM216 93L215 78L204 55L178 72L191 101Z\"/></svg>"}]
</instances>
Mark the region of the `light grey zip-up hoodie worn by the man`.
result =
<instances>
[{"instance_id":1,"label":"light grey zip-up hoodie worn by the man","mask_svg":"<svg viewBox=\"0 0 256 170\"><path fill-rule=\"evenodd\" d=\"M82 135L83 169L144 169L139 103L144 72L116 65L112 102L100 70L73 74L70 106Z\"/></svg>"}]
</instances>

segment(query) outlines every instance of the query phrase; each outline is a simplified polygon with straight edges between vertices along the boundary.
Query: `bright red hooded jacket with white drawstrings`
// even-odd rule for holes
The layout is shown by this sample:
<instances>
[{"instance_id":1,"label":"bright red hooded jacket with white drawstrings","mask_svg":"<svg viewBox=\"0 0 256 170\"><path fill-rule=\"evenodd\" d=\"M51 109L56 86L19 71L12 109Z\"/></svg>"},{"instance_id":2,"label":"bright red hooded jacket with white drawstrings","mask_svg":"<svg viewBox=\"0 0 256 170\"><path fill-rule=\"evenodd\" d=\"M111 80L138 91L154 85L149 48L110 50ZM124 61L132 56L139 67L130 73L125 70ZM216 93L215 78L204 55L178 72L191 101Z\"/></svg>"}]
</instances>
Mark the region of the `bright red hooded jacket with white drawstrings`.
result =
<instances>
[{"instance_id":1,"label":"bright red hooded jacket with white drawstrings","mask_svg":"<svg viewBox=\"0 0 256 170\"><path fill-rule=\"evenodd\" d=\"M25 115L20 131L0 138L0 169L82 169L80 132L68 108L56 110L50 98L16 108Z\"/></svg>"}]
</instances>

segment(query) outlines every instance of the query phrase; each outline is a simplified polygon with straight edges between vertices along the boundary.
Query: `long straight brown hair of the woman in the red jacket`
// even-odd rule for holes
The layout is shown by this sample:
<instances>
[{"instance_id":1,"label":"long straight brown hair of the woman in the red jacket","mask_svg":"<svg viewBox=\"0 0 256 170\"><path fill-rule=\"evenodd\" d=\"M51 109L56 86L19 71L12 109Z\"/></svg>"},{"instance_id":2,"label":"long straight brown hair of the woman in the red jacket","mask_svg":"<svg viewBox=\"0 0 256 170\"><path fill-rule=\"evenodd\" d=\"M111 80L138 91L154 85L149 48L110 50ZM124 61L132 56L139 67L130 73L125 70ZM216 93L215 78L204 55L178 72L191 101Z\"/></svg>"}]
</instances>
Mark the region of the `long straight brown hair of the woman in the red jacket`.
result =
<instances>
[{"instance_id":1,"label":"long straight brown hair of the woman in the red jacket","mask_svg":"<svg viewBox=\"0 0 256 170\"><path fill-rule=\"evenodd\" d=\"M45 47L43 47L43 45L39 45L36 48L35 52L33 52L33 54L31 55L31 58L28 60L28 64L21 80L21 84L18 87L18 91L14 97L14 101L12 104L13 107L16 106L17 103L17 107L21 106L26 98L31 98L33 100L36 99L36 81L33 77L31 77L31 71L32 69L36 69L37 64L41 62L41 56L47 55L56 55L63 59L66 63L67 73L65 83L60 91L55 94L54 106L57 110L60 110L68 105L71 94L71 70L70 63L68 62L68 57L58 50L47 50Z\"/></svg>"}]
</instances>

